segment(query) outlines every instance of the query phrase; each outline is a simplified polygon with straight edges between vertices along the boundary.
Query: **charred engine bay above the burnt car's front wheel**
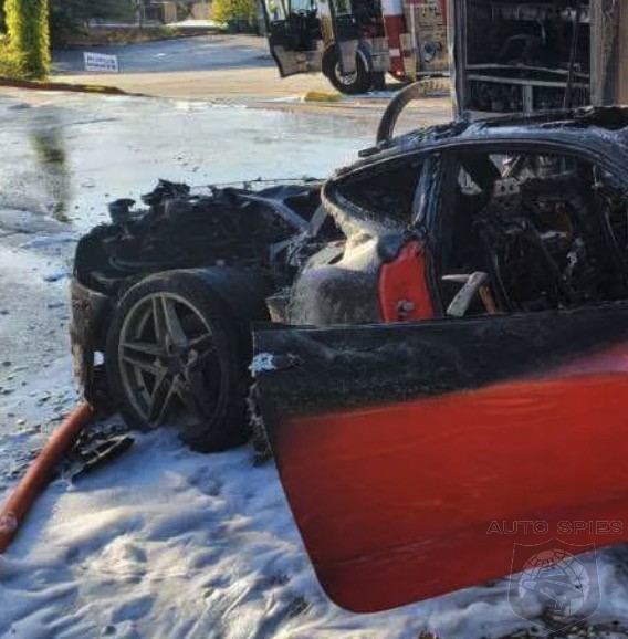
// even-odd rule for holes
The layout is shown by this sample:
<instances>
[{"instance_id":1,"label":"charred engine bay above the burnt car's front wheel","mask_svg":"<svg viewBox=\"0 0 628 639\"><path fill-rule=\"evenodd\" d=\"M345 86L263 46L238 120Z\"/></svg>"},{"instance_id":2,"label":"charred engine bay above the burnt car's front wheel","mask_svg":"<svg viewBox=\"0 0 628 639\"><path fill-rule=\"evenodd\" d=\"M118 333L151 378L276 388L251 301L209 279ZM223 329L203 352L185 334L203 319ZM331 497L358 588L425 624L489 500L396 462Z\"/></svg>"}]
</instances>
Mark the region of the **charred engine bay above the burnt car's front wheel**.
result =
<instances>
[{"instance_id":1,"label":"charred engine bay above the burnt car's front wheel","mask_svg":"<svg viewBox=\"0 0 628 639\"><path fill-rule=\"evenodd\" d=\"M259 189L193 187L160 180L143 196L109 206L113 224L100 227L81 247L78 276L103 293L119 293L139 275L172 269L237 266L287 284L335 227L316 216L320 182L258 180ZM312 223L317 232L311 233Z\"/></svg>"}]
</instances>

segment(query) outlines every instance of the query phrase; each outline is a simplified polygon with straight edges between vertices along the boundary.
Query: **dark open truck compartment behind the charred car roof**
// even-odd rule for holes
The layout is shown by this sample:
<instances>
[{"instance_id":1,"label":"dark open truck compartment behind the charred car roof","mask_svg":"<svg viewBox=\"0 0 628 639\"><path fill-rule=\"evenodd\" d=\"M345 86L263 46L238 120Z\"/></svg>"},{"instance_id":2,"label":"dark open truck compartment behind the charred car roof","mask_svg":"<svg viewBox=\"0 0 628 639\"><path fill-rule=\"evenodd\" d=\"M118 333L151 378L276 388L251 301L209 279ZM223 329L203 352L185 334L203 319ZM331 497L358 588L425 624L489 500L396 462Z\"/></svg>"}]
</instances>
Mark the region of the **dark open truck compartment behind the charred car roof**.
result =
<instances>
[{"instance_id":1,"label":"dark open truck compartment behind the charred car roof","mask_svg":"<svg viewBox=\"0 0 628 639\"><path fill-rule=\"evenodd\" d=\"M589 0L465 0L463 8L462 108L506 113L589 104Z\"/></svg>"}]
</instances>

